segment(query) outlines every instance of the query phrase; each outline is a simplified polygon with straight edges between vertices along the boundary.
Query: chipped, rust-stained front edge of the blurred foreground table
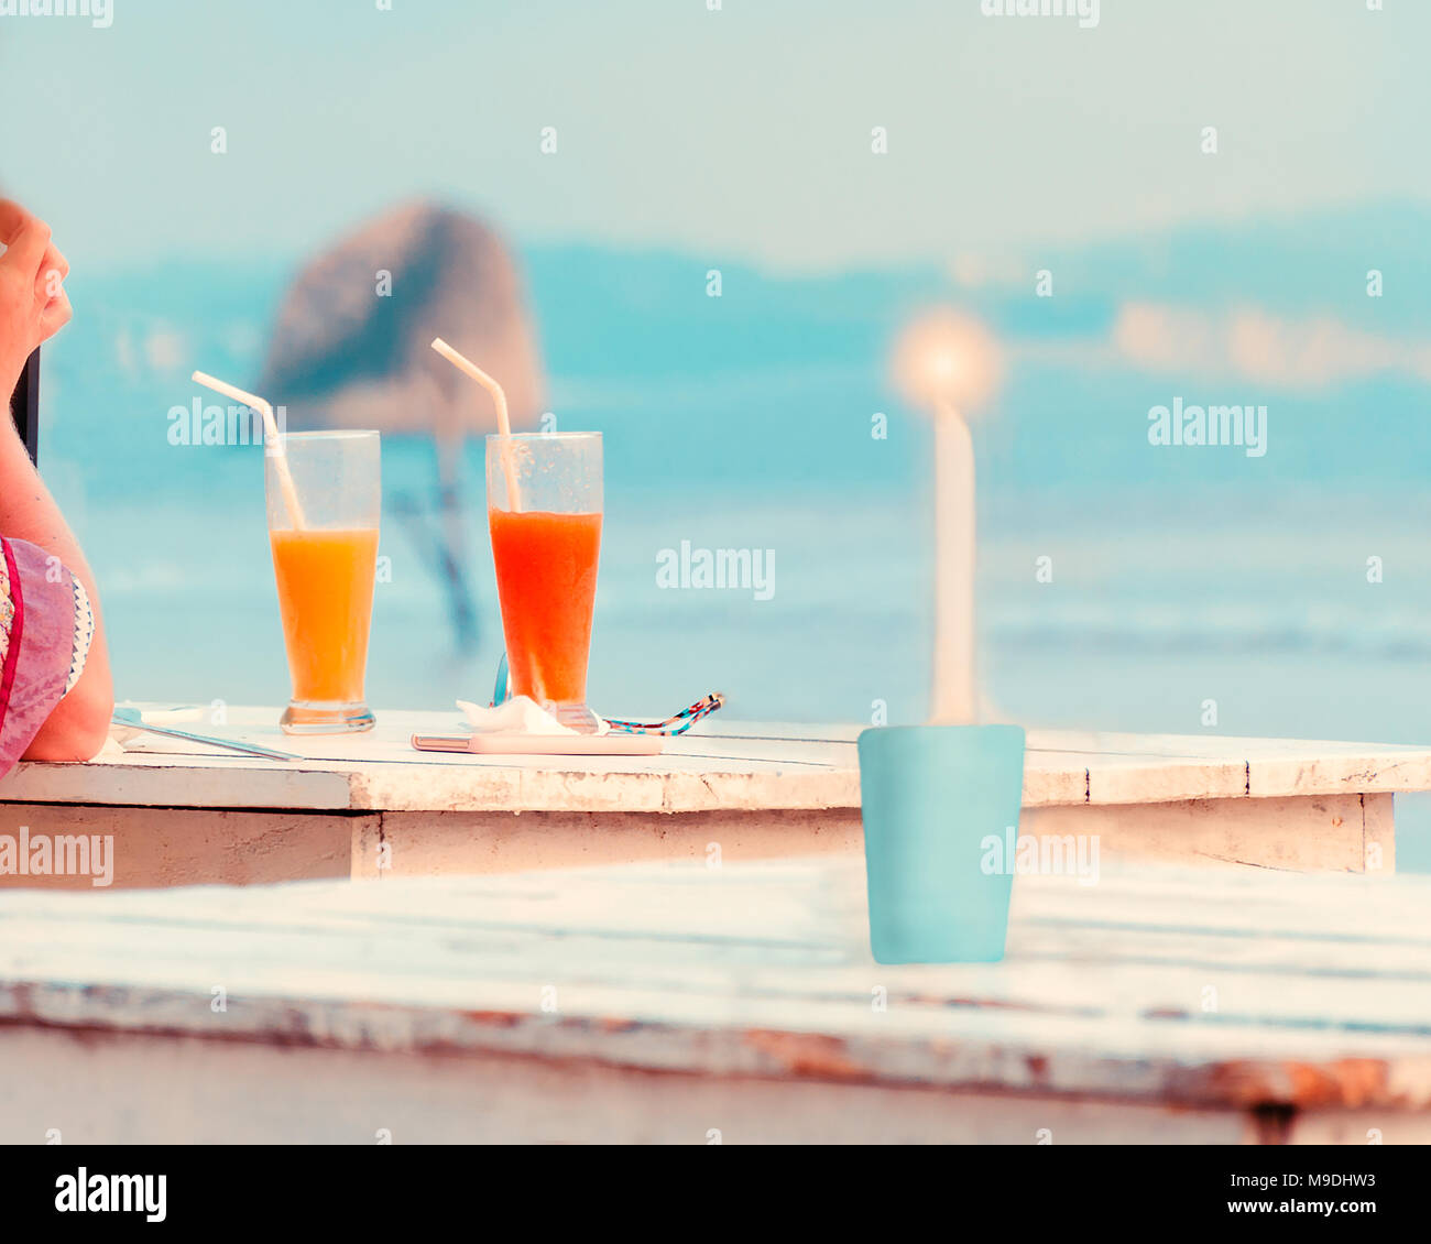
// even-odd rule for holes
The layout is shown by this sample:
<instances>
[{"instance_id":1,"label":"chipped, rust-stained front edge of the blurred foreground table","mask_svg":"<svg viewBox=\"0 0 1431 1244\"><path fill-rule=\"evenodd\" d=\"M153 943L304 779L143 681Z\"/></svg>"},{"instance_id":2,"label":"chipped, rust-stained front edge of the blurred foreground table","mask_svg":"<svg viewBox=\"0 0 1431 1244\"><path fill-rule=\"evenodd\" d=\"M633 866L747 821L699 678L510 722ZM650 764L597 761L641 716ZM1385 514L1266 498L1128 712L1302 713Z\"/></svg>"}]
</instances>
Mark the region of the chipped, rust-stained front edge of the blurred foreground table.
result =
<instances>
[{"instance_id":1,"label":"chipped, rust-stained front edge of the blurred foreground table","mask_svg":"<svg viewBox=\"0 0 1431 1244\"><path fill-rule=\"evenodd\" d=\"M220 976L216 985L222 985ZM0 991L0 1018L47 1028L146 1031L207 1035L263 1044L391 1054L527 1055L592 1059L647 1071L763 1075L794 1079L917 1084L1003 1092L1082 1095L1179 1104L1193 1108L1381 1107L1431 1108L1431 1058L1425 1042L1308 1031L1295 1044L1249 1038L1218 1025L1109 1034L1098 1019L990 1015L982 1011L914 1018L920 1041L892 1032L869 1006L821 999L798 1006L751 998L737 1012L713 1016L698 999L625 995L538 982L511 989L507 999L484 986L467 1009L333 1002L302 978L298 996L226 993L228 1011L210 1009L213 995L159 991L30 988L17 999ZM361 979L361 978L359 978ZM339 982L348 985L351 982ZM332 982L329 982L332 988ZM542 1014L539 998L561 1011ZM23 1006L21 1006L23 1002ZM628 1005L614 1009L611 1004ZM602 1005L604 1004L604 1005ZM942 1022L937 1022L940 1021Z\"/></svg>"}]
</instances>

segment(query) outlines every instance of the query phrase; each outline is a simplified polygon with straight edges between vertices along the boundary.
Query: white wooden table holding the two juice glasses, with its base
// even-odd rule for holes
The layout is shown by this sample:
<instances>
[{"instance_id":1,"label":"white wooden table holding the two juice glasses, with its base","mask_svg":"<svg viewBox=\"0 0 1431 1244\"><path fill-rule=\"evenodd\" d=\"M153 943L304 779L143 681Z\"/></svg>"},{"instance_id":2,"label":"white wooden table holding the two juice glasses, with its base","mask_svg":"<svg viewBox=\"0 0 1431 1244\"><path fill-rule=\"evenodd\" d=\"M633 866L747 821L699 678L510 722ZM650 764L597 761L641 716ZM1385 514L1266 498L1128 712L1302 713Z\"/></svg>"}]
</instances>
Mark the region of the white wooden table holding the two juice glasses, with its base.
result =
<instances>
[{"instance_id":1,"label":"white wooden table holding the two juice glasses, with its base","mask_svg":"<svg viewBox=\"0 0 1431 1244\"><path fill-rule=\"evenodd\" d=\"M276 709L196 720L301 752L255 760L147 736L93 764L21 764L0 835L113 835L114 885L509 872L861 849L859 726L723 721L655 759L418 753L456 713L381 711L371 734L285 739ZM1431 789L1431 749L1032 730L1022 832L1100 856L1301 870L1395 866L1392 793ZM86 878L4 876L6 885Z\"/></svg>"}]
</instances>

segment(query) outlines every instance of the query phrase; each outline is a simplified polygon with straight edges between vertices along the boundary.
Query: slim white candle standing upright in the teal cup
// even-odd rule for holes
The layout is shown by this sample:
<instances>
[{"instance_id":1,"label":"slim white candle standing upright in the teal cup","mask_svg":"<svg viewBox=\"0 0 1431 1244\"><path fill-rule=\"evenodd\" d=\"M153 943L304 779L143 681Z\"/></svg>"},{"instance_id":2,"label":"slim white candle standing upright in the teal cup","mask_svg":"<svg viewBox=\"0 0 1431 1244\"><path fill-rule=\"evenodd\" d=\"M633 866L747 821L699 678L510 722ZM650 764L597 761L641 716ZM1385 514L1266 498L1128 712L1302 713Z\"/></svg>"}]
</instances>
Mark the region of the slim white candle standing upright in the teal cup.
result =
<instances>
[{"instance_id":1,"label":"slim white candle standing upright in the teal cup","mask_svg":"<svg viewBox=\"0 0 1431 1244\"><path fill-rule=\"evenodd\" d=\"M975 444L963 415L934 404L934 676L930 720L972 726L975 704Z\"/></svg>"}]
</instances>

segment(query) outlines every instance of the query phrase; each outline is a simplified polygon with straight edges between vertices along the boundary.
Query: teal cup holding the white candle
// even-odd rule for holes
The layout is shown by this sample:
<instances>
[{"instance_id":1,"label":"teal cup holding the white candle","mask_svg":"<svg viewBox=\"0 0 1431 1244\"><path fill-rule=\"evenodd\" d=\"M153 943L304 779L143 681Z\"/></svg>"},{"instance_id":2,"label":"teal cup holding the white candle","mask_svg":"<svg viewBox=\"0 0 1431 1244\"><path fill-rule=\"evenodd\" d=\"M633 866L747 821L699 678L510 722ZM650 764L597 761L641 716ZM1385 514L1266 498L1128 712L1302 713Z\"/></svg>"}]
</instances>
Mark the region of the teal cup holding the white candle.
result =
<instances>
[{"instance_id":1,"label":"teal cup holding the white candle","mask_svg":"<svg viewBox=\"0 0 1431 1244\"><path fill-rule=\"evenodd\" d=\"M876 962L997 962L1009 933L1013 860L1003 846L1019 826L1023 730L889 726L866 730L859 746Z\"/></svg>"}]
</instances>

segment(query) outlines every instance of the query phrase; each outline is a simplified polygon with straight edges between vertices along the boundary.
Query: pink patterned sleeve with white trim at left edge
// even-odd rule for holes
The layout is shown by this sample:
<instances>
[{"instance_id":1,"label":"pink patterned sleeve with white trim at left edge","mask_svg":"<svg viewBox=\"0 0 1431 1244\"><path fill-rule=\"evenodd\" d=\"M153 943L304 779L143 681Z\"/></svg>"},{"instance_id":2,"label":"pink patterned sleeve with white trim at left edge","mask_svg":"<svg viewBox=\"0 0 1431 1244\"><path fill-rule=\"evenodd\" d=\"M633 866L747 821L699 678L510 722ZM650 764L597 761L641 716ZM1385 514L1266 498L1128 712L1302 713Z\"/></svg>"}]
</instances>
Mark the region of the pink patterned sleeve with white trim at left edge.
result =
<instances>
[{"instance_id":1,"label":"pink patterned sleeve with white trim at left edge","mask_svg":"<svg viewBox=\"0 0 1431 1244\"><path fill-rule=\"evenodd\" d=\"M0 538L0 777L79 681L93 637L79 578L43 548Z\"/></svg>"}]
</instances>

